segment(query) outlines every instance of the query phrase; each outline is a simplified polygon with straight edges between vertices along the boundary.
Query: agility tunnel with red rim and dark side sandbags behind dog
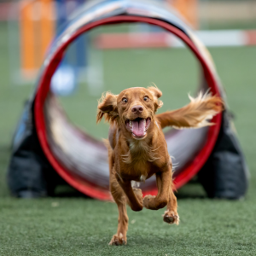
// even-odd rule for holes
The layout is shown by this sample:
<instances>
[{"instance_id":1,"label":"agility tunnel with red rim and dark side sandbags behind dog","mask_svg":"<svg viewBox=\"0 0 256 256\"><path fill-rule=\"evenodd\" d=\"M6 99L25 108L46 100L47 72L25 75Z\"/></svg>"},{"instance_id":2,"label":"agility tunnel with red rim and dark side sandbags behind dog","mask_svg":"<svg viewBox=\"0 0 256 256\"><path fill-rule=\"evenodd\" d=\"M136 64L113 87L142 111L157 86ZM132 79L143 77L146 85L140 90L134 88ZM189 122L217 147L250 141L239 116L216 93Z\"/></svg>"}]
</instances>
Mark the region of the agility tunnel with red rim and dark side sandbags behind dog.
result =
<instances>
[{"instance_id":1,"label":"agility tunnel with red rim and dark side sandbags behind dog","mask_svg":"<svg viewBox=\"0 0 256 256\"><path fill-rule=\"evenodd\" d=\"M175 11L150 1L92 1L85 4L51 44L36 90L20 119L8 174L13 195L52 195L58 177L61 177L84 195L111 200L107 149L101 141L69 122L50 90L50 83L67 47L80 35L97 26L136 22L160 26L180 38L200 63L198 90L210 90L225 101L211 56ZM231 129L229 110L215 116L212 122L216 125L166 133L168 151L178 163L173 174L176 189L198 175L208 196L241 198L247 190L248 171ZM20 127L23 127L22 131ZM144 195L156 195L154 177L143 183L142 189Z\"/></svg>"}]
</instances>

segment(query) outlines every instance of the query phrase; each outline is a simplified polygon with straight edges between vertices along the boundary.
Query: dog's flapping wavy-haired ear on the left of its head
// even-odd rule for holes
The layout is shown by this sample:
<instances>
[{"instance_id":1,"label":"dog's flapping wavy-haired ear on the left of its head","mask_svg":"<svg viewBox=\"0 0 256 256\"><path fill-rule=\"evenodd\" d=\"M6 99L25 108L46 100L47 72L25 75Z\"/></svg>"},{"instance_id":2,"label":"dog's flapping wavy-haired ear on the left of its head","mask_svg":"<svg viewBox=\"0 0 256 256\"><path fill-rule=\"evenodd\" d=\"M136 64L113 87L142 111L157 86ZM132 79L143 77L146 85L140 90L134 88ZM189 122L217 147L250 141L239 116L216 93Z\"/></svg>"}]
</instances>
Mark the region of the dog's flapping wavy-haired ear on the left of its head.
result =
<instances>
[{"instance_id":1,"label":"dog's flapping wavy-haired ear on the left of its head","mask_svg":"<svg viewBox=\"0 0 256 256\"><path fill-rule=\"evenodd\" d=\"M118 118L117 97L118 95L113 95L110 92L106 92L105 95L102 94L102 98L98 102L97 123L99 123L103 117L110 123Z\"/></svg>"}]
</instances>

